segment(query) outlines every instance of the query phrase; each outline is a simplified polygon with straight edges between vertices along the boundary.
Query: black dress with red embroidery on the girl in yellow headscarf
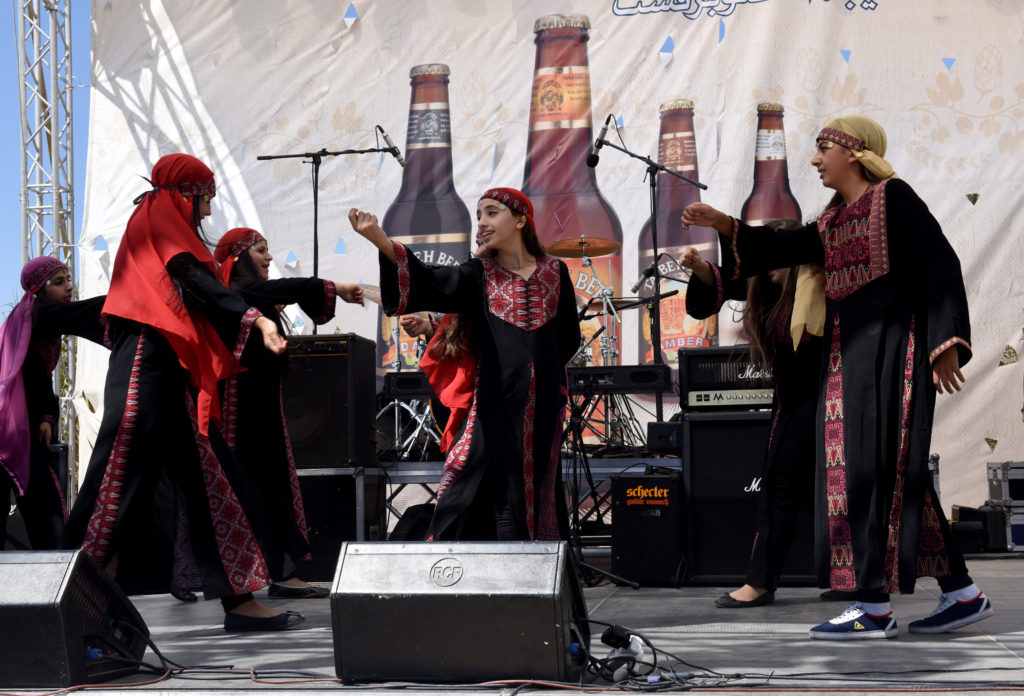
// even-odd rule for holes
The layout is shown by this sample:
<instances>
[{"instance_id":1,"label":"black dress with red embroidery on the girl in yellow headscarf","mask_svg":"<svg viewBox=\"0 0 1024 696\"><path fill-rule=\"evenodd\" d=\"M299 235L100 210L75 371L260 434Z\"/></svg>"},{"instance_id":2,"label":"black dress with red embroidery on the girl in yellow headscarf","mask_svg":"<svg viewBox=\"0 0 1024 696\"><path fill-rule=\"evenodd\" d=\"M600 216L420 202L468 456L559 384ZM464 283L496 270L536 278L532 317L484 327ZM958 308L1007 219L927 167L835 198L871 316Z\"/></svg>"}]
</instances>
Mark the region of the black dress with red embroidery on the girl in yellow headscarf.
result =
<instances>
[{"instance_id":1,"label":"black dress with red embroidery on the girl in yellow headscarf","mask_svg":"<svg viewBox=\"0 0 1024 696\"><path fill-rule=\"evenodd\" d=\"M912 593L969 583L928 470L932 361L971 358L959 260L905 182L872 185L852 206L796 230L740 224L742 275L819 263L826 319L817 412L815 525L821 586Z\"/></svg>"}]
</instances>

